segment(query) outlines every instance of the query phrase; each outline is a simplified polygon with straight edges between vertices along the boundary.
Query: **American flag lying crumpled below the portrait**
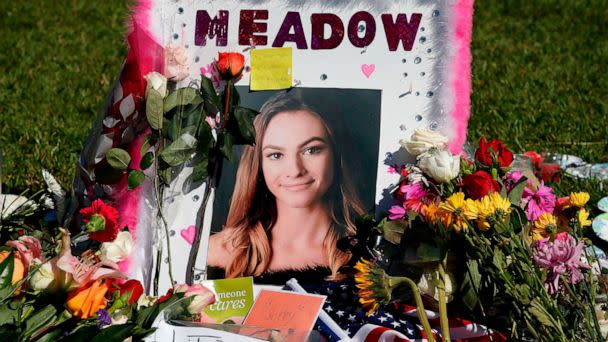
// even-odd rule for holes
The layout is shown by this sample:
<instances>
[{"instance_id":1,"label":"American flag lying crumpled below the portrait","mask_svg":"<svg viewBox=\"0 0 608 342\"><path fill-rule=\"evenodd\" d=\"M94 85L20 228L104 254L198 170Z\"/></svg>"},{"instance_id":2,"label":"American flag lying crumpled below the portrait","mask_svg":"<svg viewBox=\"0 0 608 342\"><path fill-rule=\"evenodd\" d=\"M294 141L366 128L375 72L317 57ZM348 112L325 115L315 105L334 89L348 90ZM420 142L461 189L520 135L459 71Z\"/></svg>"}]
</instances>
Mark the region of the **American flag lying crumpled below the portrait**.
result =
<instances>
[{"instance_id":1,"label":"American flag lying crumpled below the portrait","mask_svg":"<svg viewBox=\"0 0 608 342\"><path fill-rule=\"evenodd\" d=\"M427 341L416 307L394 304L387 311L379 310L367 316L358 302L352 281L324 282L305 288L308 292L327 296L323 310L353 341ZM439 314L429 310L426 314L435 339L440 341ZM454 341L506 341L504 335L481 324L459 318L450 318L449 322L450 337ZM341 332L330 329L321 320L317 321L316 329L329 341L343 340Z\"/></svg>"}]
</instances>

